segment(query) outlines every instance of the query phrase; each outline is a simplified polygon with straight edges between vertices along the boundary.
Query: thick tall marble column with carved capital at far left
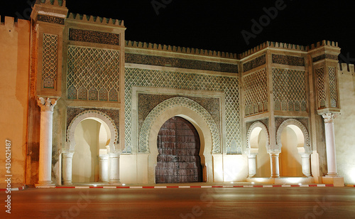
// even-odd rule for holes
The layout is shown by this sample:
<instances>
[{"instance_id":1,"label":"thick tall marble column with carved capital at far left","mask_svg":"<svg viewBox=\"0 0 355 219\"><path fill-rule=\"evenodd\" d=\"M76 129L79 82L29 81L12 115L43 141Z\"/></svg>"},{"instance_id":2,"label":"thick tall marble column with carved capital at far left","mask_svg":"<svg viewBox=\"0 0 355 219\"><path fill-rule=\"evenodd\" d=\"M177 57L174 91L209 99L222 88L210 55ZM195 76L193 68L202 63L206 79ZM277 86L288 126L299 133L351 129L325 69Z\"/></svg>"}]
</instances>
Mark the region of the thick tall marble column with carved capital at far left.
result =
<instances>
[{"instance_id":1,"label":"thick tall marble column with carved capital at far left","mask_svg":"<svg viewBox=\"0 0 355 219\"><path fill-rule=\"evenodd\" d=\"M40 107L40 157L38 184L35 186L55 186L52 182L52 134L57 99L38 97L37 102Z\"/></svg>"}]
</instances>

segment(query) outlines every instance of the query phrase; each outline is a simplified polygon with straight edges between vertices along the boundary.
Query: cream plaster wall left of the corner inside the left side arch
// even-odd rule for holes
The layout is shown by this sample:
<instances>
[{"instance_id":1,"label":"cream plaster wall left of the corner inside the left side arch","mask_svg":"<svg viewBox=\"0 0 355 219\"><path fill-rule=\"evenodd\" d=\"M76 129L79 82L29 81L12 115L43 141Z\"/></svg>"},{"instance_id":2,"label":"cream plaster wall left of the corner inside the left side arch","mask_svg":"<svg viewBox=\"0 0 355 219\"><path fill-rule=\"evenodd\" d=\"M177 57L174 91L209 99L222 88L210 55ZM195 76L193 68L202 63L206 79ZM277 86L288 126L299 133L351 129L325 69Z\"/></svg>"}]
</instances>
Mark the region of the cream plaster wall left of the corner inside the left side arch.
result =
<instances>
[{"instance_id":1,"label":"cream plaster wall left of the corner inside the left side arch","mask_svg":"<svg viewBox=\"0 0 355 219\"><path fill-rule=\"evenodd\" d=\"M86 119L75 129L75 153L72 157L72 182L99 181L99 122Z\"/></svg>"}]
</instances>

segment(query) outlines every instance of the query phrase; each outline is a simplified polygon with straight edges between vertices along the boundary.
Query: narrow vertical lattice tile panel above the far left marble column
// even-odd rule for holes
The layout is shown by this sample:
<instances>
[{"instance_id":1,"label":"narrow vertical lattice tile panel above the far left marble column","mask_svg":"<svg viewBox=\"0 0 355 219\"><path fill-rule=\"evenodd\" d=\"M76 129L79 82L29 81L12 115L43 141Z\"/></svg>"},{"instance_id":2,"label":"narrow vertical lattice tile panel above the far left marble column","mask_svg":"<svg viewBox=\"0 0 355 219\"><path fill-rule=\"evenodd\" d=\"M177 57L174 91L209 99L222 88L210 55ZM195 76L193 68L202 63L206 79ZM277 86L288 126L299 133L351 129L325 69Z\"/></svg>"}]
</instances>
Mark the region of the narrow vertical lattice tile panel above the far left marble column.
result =
<instances>
[{"instance_id":1,"label":"narrow vertical lattice tile panel above the far left marble column","mask_svg":"<svg viewBox=\"0 0 355 219\"><path fill-rule=\"evenodd\" d=\"M44 34L43 36L43 69L42 80L44 88L55 88L58 72L58 36Z\"/></svg>"}]
</instances>

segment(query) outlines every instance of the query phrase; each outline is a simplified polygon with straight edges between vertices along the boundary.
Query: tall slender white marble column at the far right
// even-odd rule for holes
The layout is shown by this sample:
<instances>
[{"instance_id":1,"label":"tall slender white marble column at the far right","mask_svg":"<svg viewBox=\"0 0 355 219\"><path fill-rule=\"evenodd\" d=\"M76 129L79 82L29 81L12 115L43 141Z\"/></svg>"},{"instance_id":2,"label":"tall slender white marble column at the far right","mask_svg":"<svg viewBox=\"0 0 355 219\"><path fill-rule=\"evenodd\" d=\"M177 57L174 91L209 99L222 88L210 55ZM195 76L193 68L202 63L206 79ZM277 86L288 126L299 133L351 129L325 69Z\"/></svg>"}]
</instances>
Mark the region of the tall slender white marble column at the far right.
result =
<instances>
[{"instance_id":1,"label":"tall slender white marble column at the far right","mask_svg":"<svg viewBox=\"0 0 355 219\"><path fill-rule=\"evenodd\" d=\"M338 176L337 157L335 156L334 113L322 114L325 127L325 146L327 148L327 176Z\"/></svg>"}]
</instances>

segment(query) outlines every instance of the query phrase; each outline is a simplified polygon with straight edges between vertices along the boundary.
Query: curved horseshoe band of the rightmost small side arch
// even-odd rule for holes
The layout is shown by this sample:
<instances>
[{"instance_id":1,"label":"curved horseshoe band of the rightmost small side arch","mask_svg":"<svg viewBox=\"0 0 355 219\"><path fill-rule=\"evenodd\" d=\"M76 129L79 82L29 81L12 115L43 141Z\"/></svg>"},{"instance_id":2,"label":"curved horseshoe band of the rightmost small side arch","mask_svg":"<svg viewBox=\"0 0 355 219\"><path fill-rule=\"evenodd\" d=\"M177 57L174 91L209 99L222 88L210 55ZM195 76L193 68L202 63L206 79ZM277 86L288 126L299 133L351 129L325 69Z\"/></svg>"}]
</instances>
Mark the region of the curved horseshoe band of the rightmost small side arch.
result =
<instances>
[{"instance_id":1,"label":"curved horseshoe band of the rightmost small side arch","mask_svg":"<svg viewBox=\"0 0 355 219\"><path fill-rule=\"evenodd\" d=\"M293 129L293 126L295 126L301 130L304 138L304 144L302 147L304 148L305 153L312 153L310 149L310 135L308 134L306 127L297 119L286 119L285 121L283 121L283 123L280 124L280 127L278 127L278 131L276 132L276 146L278 147L278 149L281 150L282 147L281 134L283 132L283 129L288 126L290 126L291 129ZM293 129L293 131L296 134L298 132L298 130L296 129Z\"/></svg>"}]
</instances>

